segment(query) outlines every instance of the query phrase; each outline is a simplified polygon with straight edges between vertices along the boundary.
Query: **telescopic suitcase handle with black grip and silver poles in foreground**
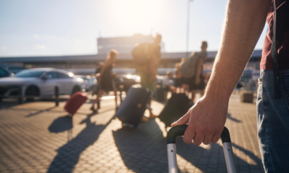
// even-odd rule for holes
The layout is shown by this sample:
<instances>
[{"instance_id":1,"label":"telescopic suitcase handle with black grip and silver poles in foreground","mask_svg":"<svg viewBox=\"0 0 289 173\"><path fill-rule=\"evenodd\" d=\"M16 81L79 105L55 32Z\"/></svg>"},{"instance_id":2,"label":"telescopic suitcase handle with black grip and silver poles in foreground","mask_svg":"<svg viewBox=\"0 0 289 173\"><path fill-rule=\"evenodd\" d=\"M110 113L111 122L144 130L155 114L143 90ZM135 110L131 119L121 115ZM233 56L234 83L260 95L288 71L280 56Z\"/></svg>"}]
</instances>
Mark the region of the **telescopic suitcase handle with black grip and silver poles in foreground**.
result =
<instances>
[{"instance_id":1,"label":"telescopic suitcase handle with black grip and silver poles in foreground","mask_svg":"<svg viewBox=\"0 0 289 173\"><path fill-rule=\"evenodd\" d=\"M175 138L184 135L186 127L187 125L175 126L171 128L167 134L167 154L168 154L169 173L178 173ZM227 171L229 173L235 173L236 172L235 159L233 155L231 137L228 128L224 127L221 139L224 148Z\"/></svg>"}]
</instances>

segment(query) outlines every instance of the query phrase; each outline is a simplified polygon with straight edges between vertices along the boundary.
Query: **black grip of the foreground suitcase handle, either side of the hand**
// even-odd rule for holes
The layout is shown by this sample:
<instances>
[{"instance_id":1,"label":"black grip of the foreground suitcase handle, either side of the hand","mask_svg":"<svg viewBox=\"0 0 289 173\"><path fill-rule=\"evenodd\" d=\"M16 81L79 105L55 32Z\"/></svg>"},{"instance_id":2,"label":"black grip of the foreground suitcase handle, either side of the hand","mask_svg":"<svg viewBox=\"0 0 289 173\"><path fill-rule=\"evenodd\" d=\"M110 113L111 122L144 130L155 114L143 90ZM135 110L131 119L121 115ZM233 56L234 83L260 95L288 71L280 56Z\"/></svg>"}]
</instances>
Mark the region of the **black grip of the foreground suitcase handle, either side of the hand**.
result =
<instances>
[{"instance_id":1,"label":"black grip of the foreground suitcase handle, either side of the hand","mask_svg":"<svg viewBox=\"0 0 289 173\"><path fill-rule=\"evenodd\" d=\"M167 144L175 143L175 138L177 138L178 136L184 135L184 131L186 131L187 127L188 125L180 125L180 126L175 126L171 128L167 134ZM224 127L224 130L221 134L221 139L222 139L222 143L231 142L228 128Z\"/></svg>"}]
</instances>

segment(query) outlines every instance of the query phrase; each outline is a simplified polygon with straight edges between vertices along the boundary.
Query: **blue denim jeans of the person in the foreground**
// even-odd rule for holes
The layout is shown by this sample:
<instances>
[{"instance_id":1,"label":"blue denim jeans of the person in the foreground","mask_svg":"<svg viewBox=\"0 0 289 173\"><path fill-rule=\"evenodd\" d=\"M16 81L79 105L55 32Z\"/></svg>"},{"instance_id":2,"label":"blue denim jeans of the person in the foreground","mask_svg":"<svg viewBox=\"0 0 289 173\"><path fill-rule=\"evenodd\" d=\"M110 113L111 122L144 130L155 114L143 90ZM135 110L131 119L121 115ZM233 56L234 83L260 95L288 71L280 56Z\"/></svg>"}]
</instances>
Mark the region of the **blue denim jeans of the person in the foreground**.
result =
<instances>
[{"instance_id":1,"label":"blue denim jeans of the person in the foreground","mask_svg":"<svg viewBox=\"0 0 289 173\"><path fill-rule=\"evenodd\" d=\"M257 132L265 172L289 172L289 70L279 71L275 99L273 71L261 70L257 94Z\"/></svg>"}]
</instances>

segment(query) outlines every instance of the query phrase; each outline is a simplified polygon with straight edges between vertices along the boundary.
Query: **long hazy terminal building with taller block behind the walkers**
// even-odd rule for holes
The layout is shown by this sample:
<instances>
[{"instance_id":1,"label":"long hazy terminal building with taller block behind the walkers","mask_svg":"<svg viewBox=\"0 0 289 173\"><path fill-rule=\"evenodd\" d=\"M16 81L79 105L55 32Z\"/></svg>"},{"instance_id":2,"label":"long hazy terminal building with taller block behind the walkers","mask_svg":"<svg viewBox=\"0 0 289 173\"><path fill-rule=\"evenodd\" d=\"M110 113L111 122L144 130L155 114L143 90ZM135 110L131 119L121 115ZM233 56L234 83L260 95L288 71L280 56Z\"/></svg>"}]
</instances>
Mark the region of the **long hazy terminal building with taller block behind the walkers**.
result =
<instances>
[{"instance_id":1,"label":"long hazy terminal building with taller block behind the walkers","mask_svg":"<svg viewBox=\"0 0 289 173\"><path fill-rule=\"evenodd\" d=\"M150 42L153 36L143 36L136 34L130 37L98 38L98 54L76 55L76 56L25 56L25 57L1 57L0 65L6 65L14 72L20 69L35 67L55 67L66 69L76 74L93 74L98 62L105 61L107 52L116 49L119 56L116 60L116 73L133 73L133 58L131 49L136 43ZM189 56L191 52L166 52L164 43L161 43L162 59L159 66L159 75L164 75L167 70L173 71L175 64L180 62L183 57ZM217 51L208 51L208 58L204 65L204 70L211 70ZM247 65L248 68L259 65L261 50L255 50Z\"/></svg>"}]
</instances>

